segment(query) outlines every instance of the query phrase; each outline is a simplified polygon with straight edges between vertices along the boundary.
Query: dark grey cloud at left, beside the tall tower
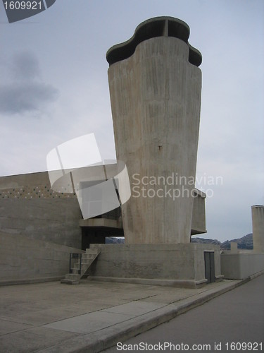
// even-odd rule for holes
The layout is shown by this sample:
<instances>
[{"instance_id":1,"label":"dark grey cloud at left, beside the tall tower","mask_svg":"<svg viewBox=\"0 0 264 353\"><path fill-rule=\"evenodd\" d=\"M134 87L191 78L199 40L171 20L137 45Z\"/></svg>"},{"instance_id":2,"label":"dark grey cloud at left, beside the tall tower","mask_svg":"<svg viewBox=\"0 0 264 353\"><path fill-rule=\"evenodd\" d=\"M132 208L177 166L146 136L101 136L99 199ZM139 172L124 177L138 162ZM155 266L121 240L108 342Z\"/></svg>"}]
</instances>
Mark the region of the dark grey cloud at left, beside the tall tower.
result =
<instances>
[{"instance_id":1,"label":"dark grey cloud at left, beside the tall tower","mask_svg":"<svg viewBox=\"0 0 264 353\"><path fill-rule=\"evenodd\" d=\"M21 114L37 111L58 97L58 90L41 79L39 61L31 52L14 54L8 71L11 79L0 85L0 112Z\"/></svg>"}]
</instances>

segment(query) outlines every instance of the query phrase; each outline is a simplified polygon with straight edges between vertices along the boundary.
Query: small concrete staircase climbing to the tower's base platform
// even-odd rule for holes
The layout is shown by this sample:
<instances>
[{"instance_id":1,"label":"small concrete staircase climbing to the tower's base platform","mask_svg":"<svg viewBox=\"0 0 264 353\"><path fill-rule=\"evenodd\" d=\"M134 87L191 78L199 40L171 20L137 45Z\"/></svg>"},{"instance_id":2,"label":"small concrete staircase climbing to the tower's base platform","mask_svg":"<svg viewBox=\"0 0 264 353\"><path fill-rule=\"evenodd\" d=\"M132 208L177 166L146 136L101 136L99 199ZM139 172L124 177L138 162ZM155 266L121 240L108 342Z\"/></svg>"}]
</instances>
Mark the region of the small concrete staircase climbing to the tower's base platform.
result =
<instances>
[{"instance_id":1,"label":"small concrete staircase climbing to the tower's base platform","mask_svg":"<svg viewBox=\"0 0 264 353\"><path fill-rule=\"evenodd\" d=\"M86 273L90 265L94 262L97 256L99 256L100 249L86 249L85 253L82 253L82 268L80 269L80 258L77 260L73 267L73 273L68 273L65 278L61 280L61 283L68 285L79 285L80 279Z\"/></svg>"}]
</instances>

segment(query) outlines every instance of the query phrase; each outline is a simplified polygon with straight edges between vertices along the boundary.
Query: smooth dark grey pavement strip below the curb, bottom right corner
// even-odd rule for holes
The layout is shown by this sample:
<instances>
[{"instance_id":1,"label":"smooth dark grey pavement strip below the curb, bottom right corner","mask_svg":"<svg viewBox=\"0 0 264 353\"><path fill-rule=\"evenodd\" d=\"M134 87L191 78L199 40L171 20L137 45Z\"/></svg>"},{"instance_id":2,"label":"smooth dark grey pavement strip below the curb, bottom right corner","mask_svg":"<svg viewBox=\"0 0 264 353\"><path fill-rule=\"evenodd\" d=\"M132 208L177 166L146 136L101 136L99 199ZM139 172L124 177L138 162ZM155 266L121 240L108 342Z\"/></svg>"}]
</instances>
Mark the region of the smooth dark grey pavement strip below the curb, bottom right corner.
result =
<instances>
[{"instance_id":1,"label":"smooth dark grey pavement strip below the curb, bottom right corner","mask_svg":"<svg viewBox=\"0 0 264 353\"><path fill-rule=\"evenodd\" d=\"M169 342L175 346L184 344L187 347L188 345L190 348L193 345L194 347L201 345L202 352L249 352L250 345L248 349L239 349L241 346L237 345L238 349L232 350L231 343L256 342L258 345L255 344L256 349L252 349L252 352L261 352L260 342L262 342L263 351L263 341L264 275L122 344L127 348L127 345L140 342L148 345ZM219 350L215 349L215 344ZM186 350L180 349L178 352L186 352ZM127 351L114 347L104 352ZM170 347L165 349L165 352L171 352Z\"/></svg>"}]
</instances>

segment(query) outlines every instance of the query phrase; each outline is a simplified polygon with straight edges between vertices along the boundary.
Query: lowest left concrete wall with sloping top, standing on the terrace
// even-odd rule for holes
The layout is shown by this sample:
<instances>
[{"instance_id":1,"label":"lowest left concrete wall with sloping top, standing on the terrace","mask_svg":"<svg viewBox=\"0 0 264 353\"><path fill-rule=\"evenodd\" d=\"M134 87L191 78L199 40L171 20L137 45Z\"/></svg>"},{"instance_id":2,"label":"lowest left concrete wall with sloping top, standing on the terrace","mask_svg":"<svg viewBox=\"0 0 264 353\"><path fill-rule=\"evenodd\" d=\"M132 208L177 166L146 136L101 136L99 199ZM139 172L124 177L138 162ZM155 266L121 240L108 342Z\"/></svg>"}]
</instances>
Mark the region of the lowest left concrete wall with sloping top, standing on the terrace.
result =
<instances>
[{"instance_id":1,"label":"lowest left concrete wall with sloping top, standing on the terrace","mask_svg":"<svg viewBox=\"0 0 264 353\"><path fill-rule=\"evenodd\" d=\"M69 271L69 253L82 252L3 232L0 232L0 244L0 285L63 277Z\"/></svg>"}]
</instances>

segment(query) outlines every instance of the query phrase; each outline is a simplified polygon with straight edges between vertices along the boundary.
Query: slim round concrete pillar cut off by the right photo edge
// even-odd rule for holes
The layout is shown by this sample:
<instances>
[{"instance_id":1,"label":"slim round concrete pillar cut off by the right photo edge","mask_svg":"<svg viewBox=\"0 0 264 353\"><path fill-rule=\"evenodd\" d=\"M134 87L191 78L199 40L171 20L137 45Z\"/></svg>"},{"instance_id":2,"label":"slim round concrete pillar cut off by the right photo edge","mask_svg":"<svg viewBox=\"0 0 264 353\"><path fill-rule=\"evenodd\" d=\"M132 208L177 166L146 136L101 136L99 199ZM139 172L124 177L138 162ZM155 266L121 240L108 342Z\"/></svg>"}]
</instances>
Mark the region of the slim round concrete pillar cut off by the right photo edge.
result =
<instances>
[{"instance_id":1,"label":"slim round concrete pillar cut off by the right photo edge","mask_svg":"<svg viewBox=\"0 0 264 353\"><path fill-rule=\"evenodd\" d=\"M264 253L264 206L251 206L253 228L253 251Z\"/></svg>"}]
</instances>

